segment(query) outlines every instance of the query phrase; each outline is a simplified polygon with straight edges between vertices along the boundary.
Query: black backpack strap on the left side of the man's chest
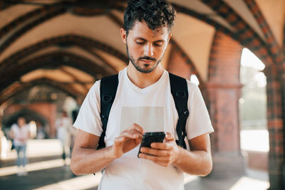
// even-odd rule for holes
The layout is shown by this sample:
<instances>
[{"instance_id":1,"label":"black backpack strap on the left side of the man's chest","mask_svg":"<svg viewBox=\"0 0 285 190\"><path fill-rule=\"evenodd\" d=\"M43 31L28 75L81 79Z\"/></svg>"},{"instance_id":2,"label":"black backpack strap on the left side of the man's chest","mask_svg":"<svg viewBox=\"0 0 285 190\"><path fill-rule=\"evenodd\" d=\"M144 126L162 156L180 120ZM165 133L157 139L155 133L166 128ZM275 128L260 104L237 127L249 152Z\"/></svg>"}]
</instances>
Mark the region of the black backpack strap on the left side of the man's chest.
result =
<instances>
[{"instance_id":1,"label":"black backpack strap on the left side of the man's chest","mask_svg":"<svg viewBox=\"0 0 285 190\"><path fill-rule=\"evenodd\" d=\"M117 75L111 75L105 78L101 79L100 83L100 117L102 121L102 128L103 132L100 136L98 147L97 149L101 149L105 147L105 134L107 129L107 123L109 118L109 113L111 110L111 107L113 105L113 102L115 100L115 95L117 93L118 88L118 74Z\"/></svg>"}]
</instances>

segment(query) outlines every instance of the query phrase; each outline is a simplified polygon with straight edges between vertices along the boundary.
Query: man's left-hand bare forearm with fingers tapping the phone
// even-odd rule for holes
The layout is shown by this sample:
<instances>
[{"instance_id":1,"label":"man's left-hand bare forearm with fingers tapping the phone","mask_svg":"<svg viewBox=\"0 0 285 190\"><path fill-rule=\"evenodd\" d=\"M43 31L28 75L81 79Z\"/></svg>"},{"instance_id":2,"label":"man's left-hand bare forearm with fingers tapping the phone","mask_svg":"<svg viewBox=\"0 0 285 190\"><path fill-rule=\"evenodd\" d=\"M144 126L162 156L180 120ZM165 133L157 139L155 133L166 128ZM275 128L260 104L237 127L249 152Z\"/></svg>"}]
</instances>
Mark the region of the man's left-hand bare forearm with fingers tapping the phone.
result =
<instances>
[{"instance_id":1,"label":"man's left-hand bare forearm with fingers tapping the phone","mask_svg":"<svg viewBox=\"0 0 285 190\"><path fill-rule=\"evenodd\" d=\"M92 174L107 167L114 159L120 158L140 144L142 127L132 125L114 139L114 144L104 149L96 150L98 136L78 130L71 157L71 170L74 174Z\"/></svg>"}]
</instances>

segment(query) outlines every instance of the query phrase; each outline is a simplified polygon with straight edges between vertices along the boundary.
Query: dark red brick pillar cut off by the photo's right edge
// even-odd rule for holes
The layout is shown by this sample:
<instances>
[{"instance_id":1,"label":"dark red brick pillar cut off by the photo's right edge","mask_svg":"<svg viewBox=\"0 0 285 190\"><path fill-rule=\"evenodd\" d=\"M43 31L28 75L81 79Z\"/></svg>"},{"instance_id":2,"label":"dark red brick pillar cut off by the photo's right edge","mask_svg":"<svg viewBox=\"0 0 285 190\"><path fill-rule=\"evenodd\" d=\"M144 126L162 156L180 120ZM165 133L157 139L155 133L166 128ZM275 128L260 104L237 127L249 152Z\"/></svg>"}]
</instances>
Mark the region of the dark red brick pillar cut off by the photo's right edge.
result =
<instances>
[{"instance_id":1,"label":"dark red brick pillar cut off by the photo's right edge","mask_svg":"<svg viewBox=\"0 0 285 190\"><path fill-rule=\"evenodd\" d=\"M267 121L269 130L269 182L270 188L285 189L284 163L284 81L282 64L267 65ZM283 82L283 84L282 84ZM282 88L283 85L283 88Z\"/></svg>"}]
</instances>

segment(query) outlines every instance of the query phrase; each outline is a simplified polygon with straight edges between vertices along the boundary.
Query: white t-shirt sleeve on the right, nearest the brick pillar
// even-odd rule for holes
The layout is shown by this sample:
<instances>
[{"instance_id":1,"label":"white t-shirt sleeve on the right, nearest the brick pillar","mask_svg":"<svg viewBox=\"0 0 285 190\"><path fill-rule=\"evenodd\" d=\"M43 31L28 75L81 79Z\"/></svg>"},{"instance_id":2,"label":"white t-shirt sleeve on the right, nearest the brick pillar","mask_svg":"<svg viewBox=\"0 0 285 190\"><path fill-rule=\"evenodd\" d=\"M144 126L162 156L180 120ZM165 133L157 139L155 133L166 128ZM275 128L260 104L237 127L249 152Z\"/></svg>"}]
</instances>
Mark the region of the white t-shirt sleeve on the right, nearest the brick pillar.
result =
<instances>
[{"instance_id":1,"label":"white t-shirt sleeve on the right, nearest the brick pillar","mask_svg":"<svg viewBox=\"0 0 285 190\"><path fill-rule=\"evenodd\" d=\"M190 112L186 122L187 139L198 137L205 133L214 132L207 107L202 94L194 83L187 81L189 89L188 110Z\"/></svg>"}]
</instances>

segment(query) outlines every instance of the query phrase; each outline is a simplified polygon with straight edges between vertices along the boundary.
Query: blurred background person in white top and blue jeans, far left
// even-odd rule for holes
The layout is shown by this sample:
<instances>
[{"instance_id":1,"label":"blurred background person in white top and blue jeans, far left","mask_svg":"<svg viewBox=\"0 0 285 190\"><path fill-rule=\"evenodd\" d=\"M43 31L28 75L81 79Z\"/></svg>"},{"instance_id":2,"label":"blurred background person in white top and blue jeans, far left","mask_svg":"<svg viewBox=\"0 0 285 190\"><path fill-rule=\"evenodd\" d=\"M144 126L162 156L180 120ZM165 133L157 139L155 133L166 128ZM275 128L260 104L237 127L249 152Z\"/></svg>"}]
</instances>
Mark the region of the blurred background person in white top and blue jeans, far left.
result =
<instances>
[{"instance_id":1,"label":"blurred background person in white top and blue jeans, far left","mask_svg":"<svg viewBox=\"0 0 285 190\"><path fill-rule=\"evenodd\" d=\"M18 167L18 176L26 176L26 144L31 137L30 127L26 124L24 117L19 117L17 124L11 126L11 138L14 139L14 146L17 152L16 165Z\"/></svg>"}]
</instances>

